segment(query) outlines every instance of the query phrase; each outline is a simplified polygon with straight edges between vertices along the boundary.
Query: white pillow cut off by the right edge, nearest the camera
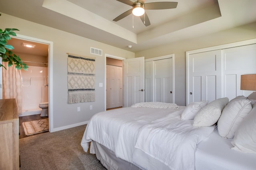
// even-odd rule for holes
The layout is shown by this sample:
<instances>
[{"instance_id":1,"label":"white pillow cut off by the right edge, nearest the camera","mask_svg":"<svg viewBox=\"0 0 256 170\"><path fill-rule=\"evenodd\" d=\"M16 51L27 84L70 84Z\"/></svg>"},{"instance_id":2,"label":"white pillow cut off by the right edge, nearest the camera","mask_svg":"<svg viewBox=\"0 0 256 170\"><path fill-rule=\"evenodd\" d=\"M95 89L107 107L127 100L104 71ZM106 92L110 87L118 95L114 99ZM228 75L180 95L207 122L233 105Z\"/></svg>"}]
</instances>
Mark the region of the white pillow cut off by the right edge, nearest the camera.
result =
<instances>
[{"instance_id":1,"label":"white pillow cut off by the right edge, nearest the camera","mask_svg":"<svg viewBox=\"0 0 256 170\"><path fill-rule=\"evenodd\" d=\"M256 104L243 119L235 133L231 149L256 154Z\"/></svg>"}]
</instances>

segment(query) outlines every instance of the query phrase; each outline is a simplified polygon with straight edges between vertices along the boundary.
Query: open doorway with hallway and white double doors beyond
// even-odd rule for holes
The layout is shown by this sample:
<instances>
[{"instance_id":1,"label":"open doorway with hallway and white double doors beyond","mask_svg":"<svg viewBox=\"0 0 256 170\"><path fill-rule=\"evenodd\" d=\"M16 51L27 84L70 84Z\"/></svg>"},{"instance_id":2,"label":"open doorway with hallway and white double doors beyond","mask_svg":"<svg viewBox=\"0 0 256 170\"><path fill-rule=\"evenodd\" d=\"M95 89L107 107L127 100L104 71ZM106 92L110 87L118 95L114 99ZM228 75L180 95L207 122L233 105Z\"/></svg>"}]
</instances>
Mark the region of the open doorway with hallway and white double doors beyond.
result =
<instances>
[{"instance_id":1,"label":"open doorway with hallway and white double doors beyond","mask_svg":"<svg viewBox=\"0 0 256 170\"><path fill-rule=\"evenodd\" d=\"M106 57L106 109L123 107L123 61Z\"/></svg>"}]
</instances>

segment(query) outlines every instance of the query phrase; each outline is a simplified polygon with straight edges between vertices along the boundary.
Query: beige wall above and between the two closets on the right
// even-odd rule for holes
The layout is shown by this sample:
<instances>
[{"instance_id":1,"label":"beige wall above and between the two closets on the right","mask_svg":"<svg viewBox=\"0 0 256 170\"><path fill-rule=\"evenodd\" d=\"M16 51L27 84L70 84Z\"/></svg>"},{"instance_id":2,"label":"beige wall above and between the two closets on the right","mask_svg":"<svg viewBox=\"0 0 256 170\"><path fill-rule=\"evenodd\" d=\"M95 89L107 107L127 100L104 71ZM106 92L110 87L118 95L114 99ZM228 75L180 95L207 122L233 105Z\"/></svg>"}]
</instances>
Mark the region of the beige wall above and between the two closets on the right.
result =
<instances>
[{"instance_id":1,"label":"beige wall above and between the two closets on the right","mask_svg":"<svg viewBox=\"0 0 256 170\"><path fill-rule=\"evenodd\" d=\"M186 51L234 43L256 38L256 22L240 27L212 33L202 37L186 39L161 47L135 53L145 59L174 54L175 58L175 103L186 106Z\"/></svg>"}]
</instances>

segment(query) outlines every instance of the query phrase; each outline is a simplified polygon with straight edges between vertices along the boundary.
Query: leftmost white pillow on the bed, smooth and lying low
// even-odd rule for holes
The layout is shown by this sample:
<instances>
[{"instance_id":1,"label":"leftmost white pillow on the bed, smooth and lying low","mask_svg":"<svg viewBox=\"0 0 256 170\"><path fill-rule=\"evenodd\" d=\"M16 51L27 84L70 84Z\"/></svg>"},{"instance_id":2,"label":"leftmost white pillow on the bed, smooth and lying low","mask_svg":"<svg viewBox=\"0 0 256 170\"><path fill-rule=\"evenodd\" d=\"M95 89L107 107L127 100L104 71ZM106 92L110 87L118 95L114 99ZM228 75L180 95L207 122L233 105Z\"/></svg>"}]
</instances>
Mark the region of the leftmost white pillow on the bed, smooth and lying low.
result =
<instances>
[{"instance_id":1,"label":"leftmost white pillow on the bed, smooth and lying low","mask_svg":"<svg viewBox=\"0 0 256 170\"><path fill-rule=\"evenodd\" d=\"M202 109L202 107L206 106L207 104L208 104L208 101L192 102L188 104L188 106L182 112L181 119L182 120L194 119L196 113L198 113L198 111Z\"/></svg>"}]
</instances>

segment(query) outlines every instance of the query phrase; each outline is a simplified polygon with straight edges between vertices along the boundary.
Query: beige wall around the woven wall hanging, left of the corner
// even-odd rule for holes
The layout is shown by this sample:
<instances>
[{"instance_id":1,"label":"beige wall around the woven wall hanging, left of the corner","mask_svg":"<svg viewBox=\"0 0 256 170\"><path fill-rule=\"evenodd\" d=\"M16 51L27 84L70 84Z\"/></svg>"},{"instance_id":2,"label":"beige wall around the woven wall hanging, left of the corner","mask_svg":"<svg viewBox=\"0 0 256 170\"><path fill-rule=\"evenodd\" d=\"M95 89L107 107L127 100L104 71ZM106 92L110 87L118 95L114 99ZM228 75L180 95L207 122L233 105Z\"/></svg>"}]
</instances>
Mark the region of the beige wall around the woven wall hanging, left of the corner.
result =
<instances>
[{"instance_id":1,"label":"beige wall around the woven wall hanging, left of the corner","mask_svg":"<svg viewBox=\"0 0 256 170\"><path fill-rule=\"evenodd\" d=\"M92 115L104 111L104 74L105 53L122 58L134 58L135 54L104 43L86 39L71 33L60 31L51 27L22 20L2 13L0 16L1 29L17 28L20 35L53 42L53 127L69 127L88 121ZM75 26L75 25L74 25ZM102 56L90 54L90 47L102 49ZM80 104L68 104L67 85L67 54L73 53L96 57L96 101ZM50 74L50 73L49 73ZM103 83L103 87L99 87ZM89 110L92 105L93 109ZM80 107L80 112L77 107Z\"/></svg>"}]
</instances>

